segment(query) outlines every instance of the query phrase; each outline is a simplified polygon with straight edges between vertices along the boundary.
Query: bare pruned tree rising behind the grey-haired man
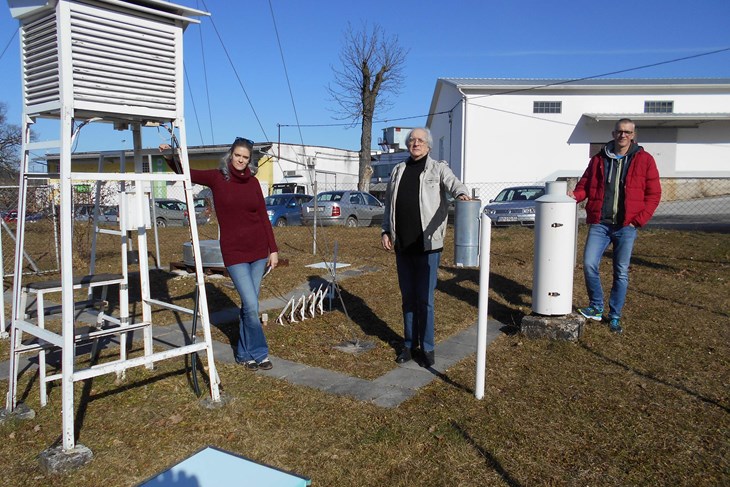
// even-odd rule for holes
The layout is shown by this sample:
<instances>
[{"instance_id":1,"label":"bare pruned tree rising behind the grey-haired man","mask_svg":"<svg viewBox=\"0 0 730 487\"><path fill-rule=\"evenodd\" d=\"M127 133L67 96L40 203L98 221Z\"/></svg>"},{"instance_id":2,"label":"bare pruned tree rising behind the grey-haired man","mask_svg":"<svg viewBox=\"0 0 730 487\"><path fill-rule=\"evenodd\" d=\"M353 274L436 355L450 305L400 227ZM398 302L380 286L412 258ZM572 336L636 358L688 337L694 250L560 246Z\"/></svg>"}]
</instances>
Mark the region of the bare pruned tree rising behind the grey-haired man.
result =
<instances>
[{"instance_id":1,"label":"bare pruned tree rising behind the grey-haired man","mask_svg":"<svg viewBox=\"0 0 730 487\"><path fill-rule=\"evenodd\" d=\"M370 152L374 113L391 105L388 95L400 93L407 54L398 37L387 37L378 24L372 28L363 24L357 31L348 24L340 51L342 66L332 67L335 81L328 91L339 106L339 118L351 120L353 126L361 122L360 191L369 190L373 173Z\"/></svg>"}]
</instances>

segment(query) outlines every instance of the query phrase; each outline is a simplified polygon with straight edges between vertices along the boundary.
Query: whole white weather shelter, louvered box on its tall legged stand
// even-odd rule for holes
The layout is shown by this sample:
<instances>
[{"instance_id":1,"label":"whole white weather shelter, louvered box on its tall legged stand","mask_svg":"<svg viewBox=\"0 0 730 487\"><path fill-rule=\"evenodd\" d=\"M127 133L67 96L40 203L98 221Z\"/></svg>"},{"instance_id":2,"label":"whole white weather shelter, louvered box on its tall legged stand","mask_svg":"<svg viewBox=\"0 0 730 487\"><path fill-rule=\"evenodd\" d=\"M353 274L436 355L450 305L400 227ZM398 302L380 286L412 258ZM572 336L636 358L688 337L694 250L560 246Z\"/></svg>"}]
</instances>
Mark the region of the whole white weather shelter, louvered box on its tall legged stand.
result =
<instances>
[{"instance_id":1,"label":"whole white weather shelter, louvered box on its tall legged stand","mask_svg":"<svg viewBox=\"0 0 730 487\"><path fill-rule=\"evenodd\" d=\"M32 2L31 2L32 3ZM182 31L187 24L197 22L191 16L207 15L205 12L177 6L160 0L58 0L38 2L38 7L28 6L27 0L9 0L11 12L21 21L21 59L23 59L24 110L22 121L22 162L20 167L20 191L18 201L18 230L15 248L15 280L13 283L12 323L10 333L10 371L6 408L17 406L19 356L21 353L38 352L42 356L48 348L61 350L61 373L44 377L45 382L60 379L62 394L63 449L75 448L74 438L74 383L102 374L123 374L131 367L152 368L160 360L192 353L207 354L210 374L210 395L220 401L219 378L213 356L210 317L200 254L197 224L190 219L190 233L195 257L196 286L199 296L198 312L203 340L191 344L155 352L152 346L152 305L166 305L152 299L150 292L149 263L147 255L147 229L137 224L132 230L137 234L139 252L140 287L142 290L142 321L132 324L128 316L127 268L127 217L131 203L138 215L149 212L143 197L143 184L152 180L179 180L185 188L188 208L194 208L190 166L187 157L187 141L183 117L183 69ZM48 34L53 34L55 36ZM45 43L45 44L44 44ZM34 57L35 56L35 57ZM41 58L42 66L34 64ZM112 75L114 74L114 75ZM154 81L161 75L165 81ZM152 81L150 81L152 79ZM121 81L120 81L121 80ZM31 142L30 127L37 117L57 119L59 138L55 141ZM76 119L103 119L117 126L131 125L134 139L135 172L79 173L71 170L72 133ZM142 137L144 123L170 123L179 133L181 175L152 175L142 173ZM58 148L60 153L60 228L61 228L61 279L58 286L45 292L61 293L61 333L43 327L43 319L33 323L26 317L22 283L23 249L25 241L25 214L27 181L37 177L29 172L30 153L34 150ZM119 218L122 237L121 263L124 269L120 281L120 317L103 315L111 328L87 334L75 329L72 249L73 215L72 188L78 180L120 181L126 191L133 188L130 198L120 198ZM44 310L43 292L38 294L38 316ZM192 311L188 310L192 313ZM100 338L111 334L120 335L120 343L133 329L142 329L144 352L142 356L129 358L124 346L119 360L77 368L75 344L79 339ZM23 335L38 340L40 346L27 347ZM43 370L42 374L45 374ZM45 402L42 397L41 402Z\"/></svg>"}]
</instances>

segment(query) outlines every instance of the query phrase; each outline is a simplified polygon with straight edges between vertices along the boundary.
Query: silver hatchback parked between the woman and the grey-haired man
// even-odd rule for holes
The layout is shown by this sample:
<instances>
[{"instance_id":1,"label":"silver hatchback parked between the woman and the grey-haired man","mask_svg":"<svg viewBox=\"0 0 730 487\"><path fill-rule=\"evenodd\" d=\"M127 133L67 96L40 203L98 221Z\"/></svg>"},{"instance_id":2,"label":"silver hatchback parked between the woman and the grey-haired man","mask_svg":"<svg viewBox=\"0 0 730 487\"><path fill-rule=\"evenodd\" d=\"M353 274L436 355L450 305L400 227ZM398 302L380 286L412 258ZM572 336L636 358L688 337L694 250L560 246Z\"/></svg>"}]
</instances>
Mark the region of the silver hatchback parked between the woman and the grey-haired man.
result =
<instances>
[{"instance_id":1,"label":"silver hatchback parked between the woman and the grey-haired man","mask_svg":"<svg viewBox=\"0 0 730 487\"><path fill-rule=\"evenodd\" d=\"M384 206L370 193L327 191L317 195L317 225L367 227L380 225ZM302 224L314 223L314 201L302 205Z\"/></svg>"}]
</instances>

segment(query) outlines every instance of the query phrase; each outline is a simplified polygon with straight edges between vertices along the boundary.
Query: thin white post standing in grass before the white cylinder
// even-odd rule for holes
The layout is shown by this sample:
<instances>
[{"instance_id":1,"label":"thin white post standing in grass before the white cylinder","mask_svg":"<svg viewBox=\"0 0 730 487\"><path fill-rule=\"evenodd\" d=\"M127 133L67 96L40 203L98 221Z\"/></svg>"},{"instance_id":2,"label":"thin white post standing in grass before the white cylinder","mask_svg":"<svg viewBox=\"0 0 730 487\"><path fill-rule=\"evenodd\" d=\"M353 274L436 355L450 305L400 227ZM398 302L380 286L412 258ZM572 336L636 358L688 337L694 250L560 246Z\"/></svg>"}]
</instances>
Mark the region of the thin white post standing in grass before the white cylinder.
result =
<instances>
[{"instance_id":1,"label":"thin white post standing in grass before the white cylinder","mask_svg":"<svg viewBox=\"0 0 730 487\"><path fill-rule=\"evenodd\" d=\"M489 254L492 241L492 220L482 212L479 239L479 311L477 320L477 370L474 396L484 398L487 379L487 313L489 311Z\"/></svg>"}]
</instances>

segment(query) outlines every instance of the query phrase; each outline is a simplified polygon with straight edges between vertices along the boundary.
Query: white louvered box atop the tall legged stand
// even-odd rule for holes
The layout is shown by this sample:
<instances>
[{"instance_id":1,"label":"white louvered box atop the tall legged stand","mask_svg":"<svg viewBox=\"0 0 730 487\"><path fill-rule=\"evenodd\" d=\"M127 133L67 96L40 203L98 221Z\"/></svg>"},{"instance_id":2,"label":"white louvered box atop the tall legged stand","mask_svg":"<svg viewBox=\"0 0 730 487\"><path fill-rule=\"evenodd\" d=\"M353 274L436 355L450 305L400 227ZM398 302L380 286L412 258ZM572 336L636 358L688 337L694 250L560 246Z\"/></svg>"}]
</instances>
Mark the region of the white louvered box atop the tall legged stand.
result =
<instances>
[{"instance_id":1,"label":"white louvered box atop the tall legged stand","mask_svg":"<svg viewBox=\"0 0 730 487\"><path fill-rule=\"evenodd\" d=\"M61 99L57 30L70 29L73 104L77 113L114 113L175 118L178 36L170 22L143 12L68 3L67 22L53 12L23 26L26 106L45 112ZM63 51L66 52L66 51ZM68 79L68 78L66 78Z\"/></svg>"}]
</instances>

